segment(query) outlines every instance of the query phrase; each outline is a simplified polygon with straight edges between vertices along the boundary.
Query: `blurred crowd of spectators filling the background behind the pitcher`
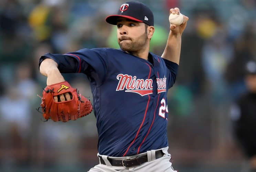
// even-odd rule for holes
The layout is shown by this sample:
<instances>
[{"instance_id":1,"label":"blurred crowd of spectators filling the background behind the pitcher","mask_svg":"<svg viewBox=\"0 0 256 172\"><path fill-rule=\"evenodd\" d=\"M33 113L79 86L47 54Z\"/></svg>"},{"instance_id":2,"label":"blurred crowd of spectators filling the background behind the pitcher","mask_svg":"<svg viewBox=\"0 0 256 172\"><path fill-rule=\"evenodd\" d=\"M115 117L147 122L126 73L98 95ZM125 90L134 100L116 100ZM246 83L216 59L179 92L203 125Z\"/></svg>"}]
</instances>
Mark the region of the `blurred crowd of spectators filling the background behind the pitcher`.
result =
<instances>
[{"instance_id":1,"label":"blurred crowd of spectators filling the background behind the pitcher","mask_svg":"<svg viewBox=\"0 0 256 172\"><path fill-rule=\"evenodd\" d=\"M182 35L177 82L168 92L169 152L180 167L242 161L229 107L246 91L244 66L256 60L255 0L140 0L154 14L151 49L161 56L169 9L190 18ZM13 167L98 163L94 114L67 123L42 122L36 111L46 77L39 58L82 48L119 48L105 22L124 0L0 1L0 171ZM92 96L87 77L64 74ZM182 166L183 165L183 166Z\"/></svg>"}]
</instances>

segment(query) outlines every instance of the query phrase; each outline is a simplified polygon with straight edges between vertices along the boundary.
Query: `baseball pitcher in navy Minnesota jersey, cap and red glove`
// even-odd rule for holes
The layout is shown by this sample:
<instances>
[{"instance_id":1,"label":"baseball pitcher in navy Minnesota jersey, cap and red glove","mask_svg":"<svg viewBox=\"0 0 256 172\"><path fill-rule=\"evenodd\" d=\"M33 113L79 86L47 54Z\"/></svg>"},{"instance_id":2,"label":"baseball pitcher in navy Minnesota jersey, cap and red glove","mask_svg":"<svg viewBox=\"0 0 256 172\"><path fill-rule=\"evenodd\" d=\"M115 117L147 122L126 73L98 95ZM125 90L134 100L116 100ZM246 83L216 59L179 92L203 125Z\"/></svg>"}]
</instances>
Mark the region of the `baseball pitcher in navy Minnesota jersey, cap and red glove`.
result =
<instances>
[{"instance_id":1,"label":"baseball pitcher in navy Minnesota jersey, cap and red glove","mask_svg":"<svg viewBox=\"0 0 256 172\"><path fill-rule=\"evenodd\" d=\"M180 11L175 8L170 13ZM72 87L61 73L84 73L90 81L99 135L99 164L90 172L174 171L168 153L167 91L176 79L181 34L188 19L184 16L181 25L170 25L160 57L149 52L153 13L143 3L126 2L117 15L106 18L106 22L117 26L121 49L82 49L66 54L47 53L40 58L40 72L47 76L41 104L45 119L80 118L70 115L69 104L63 104L74 97L78 109L83 104L85 115L90 111L87 99L73 89L68 92ZM49 97L51 105L46 102Z\"/></svg>"}]
</instances>

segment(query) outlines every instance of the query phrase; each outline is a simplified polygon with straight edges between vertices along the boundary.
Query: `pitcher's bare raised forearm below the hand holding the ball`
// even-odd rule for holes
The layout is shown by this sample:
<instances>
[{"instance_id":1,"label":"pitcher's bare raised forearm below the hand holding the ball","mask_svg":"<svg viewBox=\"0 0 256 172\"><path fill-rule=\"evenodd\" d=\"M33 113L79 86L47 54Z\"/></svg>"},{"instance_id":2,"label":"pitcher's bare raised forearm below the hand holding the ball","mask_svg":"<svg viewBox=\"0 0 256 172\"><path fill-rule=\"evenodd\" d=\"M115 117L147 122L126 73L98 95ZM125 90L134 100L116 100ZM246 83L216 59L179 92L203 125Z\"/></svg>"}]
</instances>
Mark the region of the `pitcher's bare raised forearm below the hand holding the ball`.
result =
<instances>
[{"instance_id":1,"label":"pitcher's bare raised forearm below the hand holding the ball","mask_svg":"<svg viewBox=\"0 0 256 172\"><path fill-rule=\"evenodd\" d=\"M179 64L181 50L181 33L173 34L170 30L166 48L163 51L162 58Z\"/></svg>"}]
</instances>

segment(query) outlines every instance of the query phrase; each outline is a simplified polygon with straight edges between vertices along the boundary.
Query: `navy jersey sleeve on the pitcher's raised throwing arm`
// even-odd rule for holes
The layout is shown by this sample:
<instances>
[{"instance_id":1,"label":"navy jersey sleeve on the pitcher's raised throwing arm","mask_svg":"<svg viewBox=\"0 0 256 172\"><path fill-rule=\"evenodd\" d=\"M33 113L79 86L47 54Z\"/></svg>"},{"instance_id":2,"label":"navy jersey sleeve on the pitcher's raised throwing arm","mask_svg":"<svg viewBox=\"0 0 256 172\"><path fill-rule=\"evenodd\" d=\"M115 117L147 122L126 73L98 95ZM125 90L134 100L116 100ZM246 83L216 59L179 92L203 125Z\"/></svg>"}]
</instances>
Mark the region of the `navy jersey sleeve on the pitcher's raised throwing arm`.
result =
<instances>
[{"instance_id":1,"label":"navy jersey sleeve on the pitcher's raised throwing arm","mask_svg":"<svg viewBox=\"0 0 256 172\"><path fill-rule=\"evenodd\" d=\"M177 63L174 63L174 62L166 60L166 59L163 59L163 61L167 67L166 85L167 85L167 89L169 89L173 86L173 84L176 81L176 76L178 73L179 65Z\"/></svg>"}]
</instances>

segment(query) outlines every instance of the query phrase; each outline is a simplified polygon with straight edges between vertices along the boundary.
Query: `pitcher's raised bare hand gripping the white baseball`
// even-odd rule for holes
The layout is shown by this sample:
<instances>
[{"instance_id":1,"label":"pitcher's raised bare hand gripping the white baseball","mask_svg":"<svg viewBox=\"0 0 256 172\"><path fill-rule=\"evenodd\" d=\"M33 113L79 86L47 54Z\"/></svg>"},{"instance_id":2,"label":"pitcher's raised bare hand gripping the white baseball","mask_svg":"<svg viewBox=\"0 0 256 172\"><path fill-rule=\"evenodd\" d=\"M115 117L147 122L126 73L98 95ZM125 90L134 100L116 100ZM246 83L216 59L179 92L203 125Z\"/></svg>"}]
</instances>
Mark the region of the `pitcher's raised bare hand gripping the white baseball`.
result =
<instances>
[{"instance_id":1,"label":"pitcher's raised bare hand gripping the white baseball","mask_svg":"<svg viewBox=\"0 0 256 172\"><path fill-rule=\"evenodd\" d=\"M170 20L171 15L173 15L173 16L174 15L182 15L183 17L175 17L176 20L182 20L181 21L182 23L180 25L173 24L174 22L172 23L172 21ZM170 21L170 29L172 30L172 33L174 33L174 34L182 33L186 27L188 20L189 20L189 17L181 14L179 8L176 7L174 9L173 8L170 9L169 21Z\"/></svg>"}]
</instances>

